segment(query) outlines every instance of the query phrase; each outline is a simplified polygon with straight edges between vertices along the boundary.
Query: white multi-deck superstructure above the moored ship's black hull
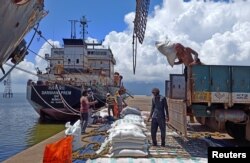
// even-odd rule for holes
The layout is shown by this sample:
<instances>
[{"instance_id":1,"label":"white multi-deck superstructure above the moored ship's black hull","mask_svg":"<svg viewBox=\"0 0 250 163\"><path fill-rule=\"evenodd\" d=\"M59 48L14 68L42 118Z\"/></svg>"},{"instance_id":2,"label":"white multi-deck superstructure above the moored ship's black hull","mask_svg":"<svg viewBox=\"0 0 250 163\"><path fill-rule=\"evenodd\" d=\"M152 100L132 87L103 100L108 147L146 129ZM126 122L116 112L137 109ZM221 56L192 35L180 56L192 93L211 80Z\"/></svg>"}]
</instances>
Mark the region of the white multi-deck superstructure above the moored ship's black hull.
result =
<instances>
[{"instance_id":1,"label":"white multi-deck superstructure above the moored ship's black hull","mask_svg":"<svg viewBox=\"0 0 250 163\"><path fill-rule=\"evenodd\" d=\"M63 39L63 48L52 48L46 73L38 73L43 82L81 85L111 85L116 60L109 48L82 39Z\"/></svg>"}]
</instances>

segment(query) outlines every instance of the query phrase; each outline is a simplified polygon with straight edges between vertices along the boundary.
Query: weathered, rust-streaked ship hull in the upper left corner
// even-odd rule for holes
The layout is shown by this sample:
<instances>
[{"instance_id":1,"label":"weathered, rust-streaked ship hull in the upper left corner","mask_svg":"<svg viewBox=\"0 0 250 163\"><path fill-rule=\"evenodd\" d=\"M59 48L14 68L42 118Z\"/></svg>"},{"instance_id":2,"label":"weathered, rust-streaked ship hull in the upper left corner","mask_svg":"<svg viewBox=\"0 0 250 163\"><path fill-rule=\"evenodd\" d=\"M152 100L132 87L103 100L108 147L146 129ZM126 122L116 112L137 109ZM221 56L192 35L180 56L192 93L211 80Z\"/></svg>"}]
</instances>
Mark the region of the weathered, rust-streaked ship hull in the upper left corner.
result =
<instances>
[{"instance_id":1,"label":"weathered, rust-streaked ship hull in the upper left corner","mask_svg":"<svg viewBox=\"0 0 250 163\"><path fill-rule=\"evenodd\" d=\"M14 58L14 50L45 15L42 0L26 3L0 0L0 66Z\"/></svg>"}]
</instances>

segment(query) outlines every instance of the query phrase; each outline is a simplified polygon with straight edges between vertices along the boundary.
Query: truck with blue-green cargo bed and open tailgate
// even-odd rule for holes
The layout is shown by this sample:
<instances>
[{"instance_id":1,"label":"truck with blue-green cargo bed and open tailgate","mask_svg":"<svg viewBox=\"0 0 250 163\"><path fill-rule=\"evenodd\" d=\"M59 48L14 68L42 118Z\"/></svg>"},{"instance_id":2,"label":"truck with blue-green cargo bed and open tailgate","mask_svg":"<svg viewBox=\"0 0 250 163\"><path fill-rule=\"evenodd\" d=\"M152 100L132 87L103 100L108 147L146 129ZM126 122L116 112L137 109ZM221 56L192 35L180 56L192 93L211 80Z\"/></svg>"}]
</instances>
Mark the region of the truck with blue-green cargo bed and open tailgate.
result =
<instances>
[{"instance_id":1,"label":"truck with blue-green cargo bed and open tailgate","mask_svg":"<svg viewBox=\"0 0 250 163\"><path fill-rule=\"evenodd\" d=\"M187 134L187 116L250 141L250 66L193 65L166 81L169 123Z\"/></svg>"}]
</instances>

